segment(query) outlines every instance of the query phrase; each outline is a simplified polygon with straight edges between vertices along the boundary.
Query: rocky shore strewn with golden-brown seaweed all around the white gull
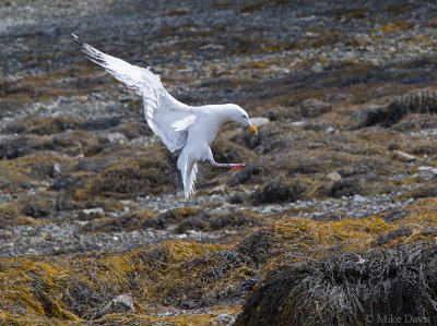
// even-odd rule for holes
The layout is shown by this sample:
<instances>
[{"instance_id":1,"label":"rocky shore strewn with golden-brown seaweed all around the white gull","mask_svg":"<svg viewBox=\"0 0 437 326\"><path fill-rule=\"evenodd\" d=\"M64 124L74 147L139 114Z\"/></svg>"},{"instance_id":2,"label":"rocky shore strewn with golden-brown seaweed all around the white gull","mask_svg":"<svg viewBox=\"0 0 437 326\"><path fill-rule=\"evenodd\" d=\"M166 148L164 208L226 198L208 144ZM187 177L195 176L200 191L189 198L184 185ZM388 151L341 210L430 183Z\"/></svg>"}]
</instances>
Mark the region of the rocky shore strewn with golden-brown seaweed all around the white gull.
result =
<instances>
[{"instance_id":1,"label":"rocky shore strewn with golden-brown seaweed all around the white gull","mask_svg":"<svg viewBox=\"0 0 437 326\"><path fill-rule=\"evenodd\" d=\"M320 298L290 279L323 264L383 279L359 259L432 256L435 12L433 1L0 0L2 323L367 323L363 307L327 309L334 300L308 303L305 319L275 287ZM150 65L180 101L244 107L259 135L228 123L213 153L247 167L201 164L185 200L177 154L141 99L70 32ZM402 313L392 307L365 306Z\"/></svg>"}]
</instances>

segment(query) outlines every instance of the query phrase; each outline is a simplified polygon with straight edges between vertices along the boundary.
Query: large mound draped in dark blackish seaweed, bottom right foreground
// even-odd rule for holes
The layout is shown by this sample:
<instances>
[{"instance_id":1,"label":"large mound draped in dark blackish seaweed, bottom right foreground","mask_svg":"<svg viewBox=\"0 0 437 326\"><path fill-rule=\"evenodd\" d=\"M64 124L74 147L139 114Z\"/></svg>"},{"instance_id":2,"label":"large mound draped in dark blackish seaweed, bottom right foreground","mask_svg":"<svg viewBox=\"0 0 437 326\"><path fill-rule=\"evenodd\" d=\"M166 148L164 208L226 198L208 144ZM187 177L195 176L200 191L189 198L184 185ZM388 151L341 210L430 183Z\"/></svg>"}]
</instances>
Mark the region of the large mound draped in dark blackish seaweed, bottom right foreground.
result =
<instances>
[{"instance_id":1,"label":"large mound draped in dark blackish seaweed, bottom right foreground","mask_svg":"<svg viewBox=\"0 0 437 326\"><path fill-rule=\"evenodd\" d=\"M429 283L437 282L432 271L437 267L435 255L434 246L420 243L359 256L343 253L319 262L290 262L249 295L235 325L358 325L399 309L434 321Z\"/></svg>"}]
</instances>

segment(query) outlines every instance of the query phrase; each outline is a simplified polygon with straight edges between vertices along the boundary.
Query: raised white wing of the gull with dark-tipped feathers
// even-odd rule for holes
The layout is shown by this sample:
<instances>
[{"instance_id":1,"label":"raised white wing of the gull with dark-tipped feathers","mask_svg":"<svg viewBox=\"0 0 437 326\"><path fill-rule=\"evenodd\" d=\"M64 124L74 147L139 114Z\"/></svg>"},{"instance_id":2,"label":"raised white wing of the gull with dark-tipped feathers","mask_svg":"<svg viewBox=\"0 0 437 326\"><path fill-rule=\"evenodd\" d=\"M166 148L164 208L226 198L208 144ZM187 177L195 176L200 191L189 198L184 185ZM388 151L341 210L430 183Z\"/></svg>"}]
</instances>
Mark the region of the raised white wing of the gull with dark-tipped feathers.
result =
<instances>
[{"instance_id":1,"label":"raised white wing of the gull with dark-tipped feathers","mask_svg":"<svg viewBox=\"0 0 437 326\"><path fill-rule=\"evenodd\" d=\"M79 37L74 34L72 36L79 43ZM187 128L196 122L196 116L189 106L168 94L158 75L152 73L149 68L137 67L108 56L86 43L80 45L87 59L102 65L114 77L142 96L149 126L170 152L184 147Z\"/></svg>"}]
</instances>

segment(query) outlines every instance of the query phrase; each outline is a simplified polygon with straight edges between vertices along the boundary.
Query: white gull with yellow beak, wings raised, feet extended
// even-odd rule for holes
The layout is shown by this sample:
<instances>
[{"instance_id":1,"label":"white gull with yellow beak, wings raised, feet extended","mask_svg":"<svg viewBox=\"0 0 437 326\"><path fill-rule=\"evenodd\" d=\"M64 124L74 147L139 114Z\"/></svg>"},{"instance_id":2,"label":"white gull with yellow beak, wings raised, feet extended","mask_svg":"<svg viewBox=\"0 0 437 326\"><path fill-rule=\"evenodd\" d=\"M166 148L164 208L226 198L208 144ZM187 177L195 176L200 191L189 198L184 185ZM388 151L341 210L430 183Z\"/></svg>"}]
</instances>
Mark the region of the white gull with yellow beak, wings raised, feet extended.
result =
<instances>
[{"instance_id":1,"label":"white gull with yellow beak, wings raised, feet extended","mask_svg":"<svg viewBox=\"0 0 437 326\"><path fill-rule=\"evenodd\" d=\"M199 160L208 159L214 167L233 170L246 166L246 162L216 162L210 147L217 135L218 128L227 121L236 121L258 134L257 128L250 122L249 116L243 108L234 104L200 107L185 105L168 94L160 76L152 73L149 68L132 65L108 56L82 43L73 33L71 35L87 59L102 65L143 98L145 120L167 148L172 153L181 149L177 167L182 177L186 198L194 194Z\"/></svg>"}]
</instances>

